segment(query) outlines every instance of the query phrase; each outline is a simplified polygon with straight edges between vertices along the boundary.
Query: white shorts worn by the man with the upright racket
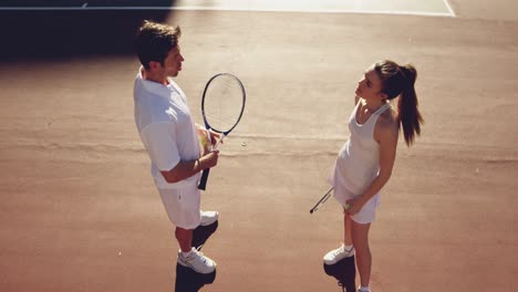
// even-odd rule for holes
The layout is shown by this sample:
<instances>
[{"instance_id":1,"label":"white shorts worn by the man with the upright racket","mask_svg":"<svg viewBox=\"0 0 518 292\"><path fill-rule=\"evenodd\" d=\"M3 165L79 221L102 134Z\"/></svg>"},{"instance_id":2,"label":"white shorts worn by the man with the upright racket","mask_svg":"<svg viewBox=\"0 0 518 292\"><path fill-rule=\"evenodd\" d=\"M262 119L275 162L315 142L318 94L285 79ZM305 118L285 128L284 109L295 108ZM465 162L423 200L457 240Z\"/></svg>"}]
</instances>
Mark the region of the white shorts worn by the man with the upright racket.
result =
<instances>
[{"instance_id":1,"label":"white shorts worn by the man with the upright racket","mask_svg":"<svg viewBox=\"0 0 518 292\"><path fill-rule=\"evenodd\" d=\"M178 189L158 189L158 192L169 220L176 227L190 230L199 226L200 190L196 185Z\"/></svg>"}]
</instances>

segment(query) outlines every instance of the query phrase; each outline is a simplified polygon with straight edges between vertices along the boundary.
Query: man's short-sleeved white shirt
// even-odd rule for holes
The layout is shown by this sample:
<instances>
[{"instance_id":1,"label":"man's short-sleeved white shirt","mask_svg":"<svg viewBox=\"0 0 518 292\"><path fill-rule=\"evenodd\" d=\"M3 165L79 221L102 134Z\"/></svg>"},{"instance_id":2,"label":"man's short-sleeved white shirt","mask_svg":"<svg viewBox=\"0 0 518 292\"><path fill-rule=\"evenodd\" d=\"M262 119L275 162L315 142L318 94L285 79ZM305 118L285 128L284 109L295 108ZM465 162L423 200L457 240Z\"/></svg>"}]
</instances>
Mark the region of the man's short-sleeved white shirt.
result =
<instances>
[{"instance_id":1,"label":"man's short-sleeved white shirt","mask_svg":"<svg viewBox=\"0 0 518 292\"><path fill-rule=\"evenodd\" d=\"M142 67L135 79L135 123L152 161L152 176L158 189L196 186L199 176L169 184L160 171L173 169L182 160L200 156L196 125L187 105L187 97L178 85L144 80Z\"/></svg>"}]
</instances>

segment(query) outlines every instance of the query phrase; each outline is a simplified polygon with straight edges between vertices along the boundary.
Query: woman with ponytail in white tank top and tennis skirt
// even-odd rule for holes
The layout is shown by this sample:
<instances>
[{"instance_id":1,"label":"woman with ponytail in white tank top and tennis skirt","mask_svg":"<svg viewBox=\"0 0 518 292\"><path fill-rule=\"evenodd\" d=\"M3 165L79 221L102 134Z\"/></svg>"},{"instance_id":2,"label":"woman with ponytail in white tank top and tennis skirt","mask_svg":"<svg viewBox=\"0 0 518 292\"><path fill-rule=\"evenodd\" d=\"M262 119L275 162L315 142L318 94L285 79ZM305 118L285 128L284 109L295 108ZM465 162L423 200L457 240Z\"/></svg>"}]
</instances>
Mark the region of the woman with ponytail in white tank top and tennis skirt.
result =
<instances>
[{"instance_id":1,"label":"woman with ponytail in white tank top and tennis skirt","mask_svg":"<svg viewBox=\"0 0 518 292\"><path fill-rule=\"evenodd\" d=\"M374 63L356 88L355 107L349 118L350 137L340 150L333 175L335 199L344 207L344 244L328 252L327 264L356 254L361 285L370 291L372 257L369 229L380 202L380 191L394 166L400 126L407 146L421 134L423 118L417 108L413 65L393 61ZM390 101L398 97L397 109Z\"/></svg>"}]
</instances>

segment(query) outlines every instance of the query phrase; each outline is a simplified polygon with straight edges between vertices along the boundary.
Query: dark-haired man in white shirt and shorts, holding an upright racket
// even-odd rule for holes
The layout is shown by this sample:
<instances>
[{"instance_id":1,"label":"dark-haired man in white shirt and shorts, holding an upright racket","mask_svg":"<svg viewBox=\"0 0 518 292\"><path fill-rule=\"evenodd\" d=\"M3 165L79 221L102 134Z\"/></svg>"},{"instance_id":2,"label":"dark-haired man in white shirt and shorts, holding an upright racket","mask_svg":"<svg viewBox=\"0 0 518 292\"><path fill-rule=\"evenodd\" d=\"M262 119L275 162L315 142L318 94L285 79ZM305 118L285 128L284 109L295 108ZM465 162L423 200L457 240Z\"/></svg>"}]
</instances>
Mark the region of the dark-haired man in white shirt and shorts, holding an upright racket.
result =
<instances>
[{"instance_id":1,"label":"dark-haired man in white shirt and shorts, holding an upright racket","mask_svg":"<svg viewBox=\"0 0 518 292\"><path fill-rule=\"evenodd\" d=\"M179 27L144 21L136 35L142 66L135 80L135 123L152 161L152 176L180 250L178 263L199 273L211 273L216 262L191 248L193 230L210 225L218 212L200 211L197 188L200 171L216 166L217 150L204 150L198 135L207 136L194 123L184 92L173 81L182 71L184 58ZM217 135L211 133L214 142Z\"/></svg>"}]
</instances>

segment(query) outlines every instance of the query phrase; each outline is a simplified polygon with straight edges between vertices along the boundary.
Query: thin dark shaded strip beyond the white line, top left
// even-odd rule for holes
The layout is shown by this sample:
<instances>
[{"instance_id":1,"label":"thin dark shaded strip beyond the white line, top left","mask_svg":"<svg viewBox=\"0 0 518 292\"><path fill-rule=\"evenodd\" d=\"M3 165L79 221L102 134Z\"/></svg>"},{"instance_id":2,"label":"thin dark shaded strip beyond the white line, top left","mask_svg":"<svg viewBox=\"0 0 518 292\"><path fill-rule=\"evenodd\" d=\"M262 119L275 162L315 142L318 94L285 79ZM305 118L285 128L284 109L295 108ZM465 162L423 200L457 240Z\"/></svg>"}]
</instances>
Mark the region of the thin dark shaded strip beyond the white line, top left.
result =
<instances>
[{"instance_id":1,"label":"thin dark shaded strip beyond the white line, top left","mask_svg":"<svg viewBox=\"0 0 518 292\"><path fill-rule=\"evenodd\" d=\"M174 0L2 0L0 8L173 7Z\"/></svg>"}]
</instances>

